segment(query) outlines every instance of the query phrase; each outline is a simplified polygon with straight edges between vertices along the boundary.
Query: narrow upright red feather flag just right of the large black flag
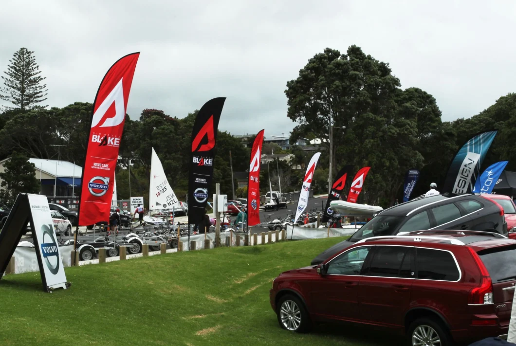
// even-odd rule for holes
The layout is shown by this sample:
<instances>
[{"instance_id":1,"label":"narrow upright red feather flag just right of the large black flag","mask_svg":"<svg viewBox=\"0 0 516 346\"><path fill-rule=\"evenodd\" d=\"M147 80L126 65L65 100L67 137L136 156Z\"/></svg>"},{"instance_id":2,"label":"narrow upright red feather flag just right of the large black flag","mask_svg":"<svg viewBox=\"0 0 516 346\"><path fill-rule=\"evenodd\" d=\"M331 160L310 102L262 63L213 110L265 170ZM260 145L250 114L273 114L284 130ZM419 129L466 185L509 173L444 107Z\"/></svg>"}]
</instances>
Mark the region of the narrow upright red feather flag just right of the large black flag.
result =
<instances>
[{"instance_id":1,"label":"narrow upright red feather flag just right of the large black flag","mask_svg":"<svg viewBox=\"0 0 516 346\"><path fill-rule=\"evenodd\" d=\"M247 224L254 226L260 223L260 162L262 156L263 132L261 130L254 139L249 164L249 180L247 183Z\"/></svg>"}]
</instances>

